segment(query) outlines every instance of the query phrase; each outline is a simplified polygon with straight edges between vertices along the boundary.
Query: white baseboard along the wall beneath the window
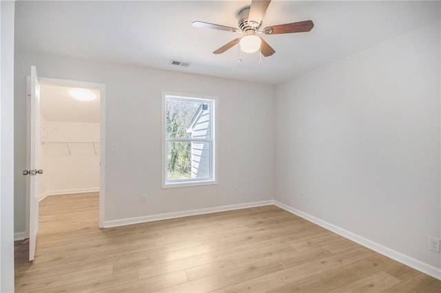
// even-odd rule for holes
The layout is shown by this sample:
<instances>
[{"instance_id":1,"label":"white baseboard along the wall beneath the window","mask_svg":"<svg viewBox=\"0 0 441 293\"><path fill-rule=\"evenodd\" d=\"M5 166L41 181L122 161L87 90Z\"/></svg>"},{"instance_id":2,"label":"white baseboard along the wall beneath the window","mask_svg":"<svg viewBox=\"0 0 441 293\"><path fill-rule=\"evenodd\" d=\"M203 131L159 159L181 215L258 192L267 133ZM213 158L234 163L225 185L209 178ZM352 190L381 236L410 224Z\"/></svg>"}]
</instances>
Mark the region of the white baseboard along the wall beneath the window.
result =
<instances>
[{"instance_id":1,"label":"white baseboard along the wall beneath the window","mask_svg":"<svg viewBox=\"0 0 441 293\"><path fill-rule=\"evenodd\" d=\"M185 210L183 212L174 212L174 213L165 213L165 214L150 215L150 216L143 216L143 217L117 219L117 220L111 220L111 221L104 221L103 228L140 224L140 223L145 223L145 222L149 222L149 221L159 221L159 220L163 220L163 219L175 219L175 218L189 217L189 216L195 216L195 215L204 215L204 214L210 214L210 213L225 212L226 210L238 210L240 208L255 208L257 206L270 206L272 204L274 204L274 201L265 200L263 202L250 202L247 204L232 204L229 206L216 206L215 208L201 208L198 210Z\"/></svg>"}]
</instances>

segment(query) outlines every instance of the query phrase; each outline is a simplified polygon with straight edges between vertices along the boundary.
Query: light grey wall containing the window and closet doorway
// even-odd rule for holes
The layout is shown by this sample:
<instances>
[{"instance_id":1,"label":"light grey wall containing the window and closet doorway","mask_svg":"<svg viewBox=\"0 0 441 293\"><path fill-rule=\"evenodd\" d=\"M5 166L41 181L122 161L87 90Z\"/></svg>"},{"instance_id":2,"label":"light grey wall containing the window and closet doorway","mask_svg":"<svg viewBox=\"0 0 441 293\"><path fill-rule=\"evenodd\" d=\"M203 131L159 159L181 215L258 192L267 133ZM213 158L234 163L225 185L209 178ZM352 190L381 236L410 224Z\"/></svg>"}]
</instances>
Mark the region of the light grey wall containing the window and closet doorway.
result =
<instances>
[{"instance_id":1,"label":"light grey wall containing the window and closet doorway","mask_svg":"<svg viewBox=\"0 0 441 293\"><path fill-rule=\"evenodd\" d=\"M106 85L105 221L274 198L273 87L23 52L15 58L17 169L25 164L30 65L37 66L39 76ZM161 91L218 96L218 184L161 188ZM119 152L112 153L111 143L119 144ZM16 232L25 229L24 182L17 178L15 185ZM147 204L141 204L143 193Z\"/></svg>"}]
</instances>

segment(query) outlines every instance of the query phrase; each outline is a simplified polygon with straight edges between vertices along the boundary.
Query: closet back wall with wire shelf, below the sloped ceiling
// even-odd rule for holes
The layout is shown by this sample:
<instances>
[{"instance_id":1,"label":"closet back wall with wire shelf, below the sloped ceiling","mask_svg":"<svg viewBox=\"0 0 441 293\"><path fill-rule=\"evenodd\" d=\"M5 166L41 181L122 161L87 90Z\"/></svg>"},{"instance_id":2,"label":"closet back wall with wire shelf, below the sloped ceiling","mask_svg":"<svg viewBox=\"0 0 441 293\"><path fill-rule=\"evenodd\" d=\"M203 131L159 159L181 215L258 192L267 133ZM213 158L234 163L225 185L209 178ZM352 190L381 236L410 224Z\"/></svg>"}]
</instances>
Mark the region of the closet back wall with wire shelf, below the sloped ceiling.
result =
<instances>
[{"instance_id":1,"label":"closet back wall with wire shelf, below the sloped ceiling","mask_svg":"<svg viewBox=\"0 0 441 293\"><path fill-rule=\"evenodd\" d=\"M55 130L42 140L44 173L40 182L43 178L44 188L40 197L99 191L99 123L47 120L43 123ZM70 143L68 149L65 142L81 143ZM90 142L96 142L95 148Z\"/></svg>"}]
</instances>

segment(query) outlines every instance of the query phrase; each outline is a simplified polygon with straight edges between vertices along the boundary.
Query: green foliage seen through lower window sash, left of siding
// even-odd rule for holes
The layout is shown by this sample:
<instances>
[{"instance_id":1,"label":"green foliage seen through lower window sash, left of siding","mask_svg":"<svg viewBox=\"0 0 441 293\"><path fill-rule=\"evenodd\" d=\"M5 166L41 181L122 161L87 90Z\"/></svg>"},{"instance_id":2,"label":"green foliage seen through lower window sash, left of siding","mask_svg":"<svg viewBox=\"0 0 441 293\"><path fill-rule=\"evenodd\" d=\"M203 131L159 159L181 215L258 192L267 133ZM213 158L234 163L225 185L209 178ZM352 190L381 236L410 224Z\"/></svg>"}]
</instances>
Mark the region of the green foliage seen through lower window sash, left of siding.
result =
<instances>
[{"instance_id":1,"label":"green foliage seen through lower window sash, left of siding","mask_svg":"<svg viewBox=\"0 0 441 293\"><path fill-rule=\"evenodd\" d=\"M192 177L191 142L167 142L167 180Z\"/></svg>"}]
</instances>

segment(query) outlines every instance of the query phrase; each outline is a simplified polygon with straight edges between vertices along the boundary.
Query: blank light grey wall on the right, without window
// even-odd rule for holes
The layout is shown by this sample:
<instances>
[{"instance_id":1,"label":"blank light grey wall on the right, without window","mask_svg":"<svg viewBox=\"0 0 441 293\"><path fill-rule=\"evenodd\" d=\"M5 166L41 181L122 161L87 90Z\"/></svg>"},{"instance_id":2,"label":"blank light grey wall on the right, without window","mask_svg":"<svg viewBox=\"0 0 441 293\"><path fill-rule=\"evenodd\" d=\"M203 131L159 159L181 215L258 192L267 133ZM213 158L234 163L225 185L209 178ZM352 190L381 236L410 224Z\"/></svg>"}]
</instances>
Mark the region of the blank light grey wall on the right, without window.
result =
<instances>
[{"instance_id":1,"label":"blank light grey wall on the right, without window","mask_svg":"<svg viewBox=\"0 0 441 293\"><path fill-rule=\"evenodd\" d=\"M275 103L276 200L441 277L440 23L289 80Z\"/></svg>"}]
</instances>

